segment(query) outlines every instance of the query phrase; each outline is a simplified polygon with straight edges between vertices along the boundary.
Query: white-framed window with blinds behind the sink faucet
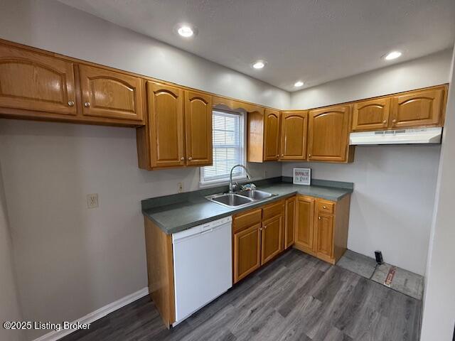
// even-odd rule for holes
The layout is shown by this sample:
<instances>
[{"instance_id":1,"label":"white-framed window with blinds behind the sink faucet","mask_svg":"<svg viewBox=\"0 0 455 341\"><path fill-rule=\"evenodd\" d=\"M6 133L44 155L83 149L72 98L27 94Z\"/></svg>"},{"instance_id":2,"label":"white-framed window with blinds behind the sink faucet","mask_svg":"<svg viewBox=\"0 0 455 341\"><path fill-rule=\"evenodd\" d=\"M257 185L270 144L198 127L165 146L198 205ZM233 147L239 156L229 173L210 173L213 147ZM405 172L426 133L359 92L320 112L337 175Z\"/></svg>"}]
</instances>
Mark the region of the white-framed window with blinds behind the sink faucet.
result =
<instances>
[{"instance_id":1,"label":"white-framed window with blinds behind the sink faucet","mask_svg":"<svg viewBox=\"0 0 455 341\"><path fill-rule=\"evenodd\" d=\"M245 165L244 115L236 112L213 111L213 166L200 168L200 183L220 183L229 180L230 169ZM241 167L232 178L245 178Z\"/></svg>"}]
</instances>

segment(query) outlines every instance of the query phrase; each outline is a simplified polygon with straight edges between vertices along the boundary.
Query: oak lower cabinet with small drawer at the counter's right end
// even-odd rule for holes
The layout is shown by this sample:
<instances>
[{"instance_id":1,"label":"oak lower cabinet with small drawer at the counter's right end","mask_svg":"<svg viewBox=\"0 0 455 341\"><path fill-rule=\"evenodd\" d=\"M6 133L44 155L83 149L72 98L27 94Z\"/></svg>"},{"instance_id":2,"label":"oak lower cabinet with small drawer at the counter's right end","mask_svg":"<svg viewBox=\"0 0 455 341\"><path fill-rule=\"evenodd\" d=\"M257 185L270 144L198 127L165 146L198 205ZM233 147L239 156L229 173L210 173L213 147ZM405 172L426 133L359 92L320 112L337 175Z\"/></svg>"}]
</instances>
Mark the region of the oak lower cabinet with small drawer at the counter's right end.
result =
<instances>
[{"instance_id":1,"label":"oak lower cabinet with small drawer at the counter's right end","mask_svg":"<svg viewBox=\"0 0 455 341\"><path fill-rule=\"evenodd\" d=\"M297 195L294 247L335 264L348 244L350 195L337 202Z\"/></svg>"}]
</instances>

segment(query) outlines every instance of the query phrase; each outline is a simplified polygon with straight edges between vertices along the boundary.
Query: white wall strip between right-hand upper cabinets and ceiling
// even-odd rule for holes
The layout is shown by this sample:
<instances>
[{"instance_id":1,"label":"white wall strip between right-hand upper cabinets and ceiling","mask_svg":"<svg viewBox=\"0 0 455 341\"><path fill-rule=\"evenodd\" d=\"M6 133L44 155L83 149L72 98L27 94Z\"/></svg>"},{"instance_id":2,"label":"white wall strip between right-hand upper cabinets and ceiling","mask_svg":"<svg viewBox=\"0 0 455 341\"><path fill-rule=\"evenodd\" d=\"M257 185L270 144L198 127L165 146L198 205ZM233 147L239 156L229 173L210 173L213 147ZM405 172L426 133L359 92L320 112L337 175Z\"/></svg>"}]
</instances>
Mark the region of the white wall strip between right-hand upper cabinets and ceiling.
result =
<instances>
[{"instance_id":1,"label":"white wall strip between right-hand upper cabinets and ceiling","mask_svg":"<svg viewBox=\"0 0 455 341\"><path fill-rule=\"evenodd\" d=\"M451 50L291 93L293 109L311 109L449 82Z\"/></svg>"}]
</instances>

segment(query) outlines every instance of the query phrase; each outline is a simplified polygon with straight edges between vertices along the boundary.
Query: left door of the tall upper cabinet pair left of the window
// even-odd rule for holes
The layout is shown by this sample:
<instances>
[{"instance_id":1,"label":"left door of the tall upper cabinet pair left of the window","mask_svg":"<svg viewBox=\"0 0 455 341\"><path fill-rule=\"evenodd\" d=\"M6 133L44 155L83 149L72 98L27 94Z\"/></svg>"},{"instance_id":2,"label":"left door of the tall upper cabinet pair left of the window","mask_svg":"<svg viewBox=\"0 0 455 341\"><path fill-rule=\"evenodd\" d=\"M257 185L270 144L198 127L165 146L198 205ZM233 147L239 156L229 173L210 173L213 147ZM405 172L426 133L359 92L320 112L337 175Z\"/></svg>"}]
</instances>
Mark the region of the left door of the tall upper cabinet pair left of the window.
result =
<instances>
[{"instance_id":1,"label":"left door of the tall upper cabinet pair left of the window","mask_svg":"<svg viewBox=\"0 0 455 341\"><path fill-rule=\"evenodd\" d=\"M151 166L185 166L183 153L183 90L147 82Z\"/></svg>"}]
</instances>

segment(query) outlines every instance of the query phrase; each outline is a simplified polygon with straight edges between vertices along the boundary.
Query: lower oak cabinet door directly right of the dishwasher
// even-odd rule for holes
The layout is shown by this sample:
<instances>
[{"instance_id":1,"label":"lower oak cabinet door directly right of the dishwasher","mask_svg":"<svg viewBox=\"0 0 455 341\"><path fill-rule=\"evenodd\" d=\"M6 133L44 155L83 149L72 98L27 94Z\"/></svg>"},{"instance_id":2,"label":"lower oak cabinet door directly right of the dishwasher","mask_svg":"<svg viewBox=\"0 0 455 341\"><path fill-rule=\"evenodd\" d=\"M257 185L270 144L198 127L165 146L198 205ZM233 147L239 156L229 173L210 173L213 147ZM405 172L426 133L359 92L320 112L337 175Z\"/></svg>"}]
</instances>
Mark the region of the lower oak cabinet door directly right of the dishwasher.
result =
<instances>
[{"instance_id":1,"label":"lower oak cabinet door directly right of the dishwasher","mask_svg":"<svg viewBox=\"0 0 455 341\"><path fill-rule=\"evenodd\" d=\"M261 266L261 224L234 234L234 283Z\"/></svg>"}]
</instances>

